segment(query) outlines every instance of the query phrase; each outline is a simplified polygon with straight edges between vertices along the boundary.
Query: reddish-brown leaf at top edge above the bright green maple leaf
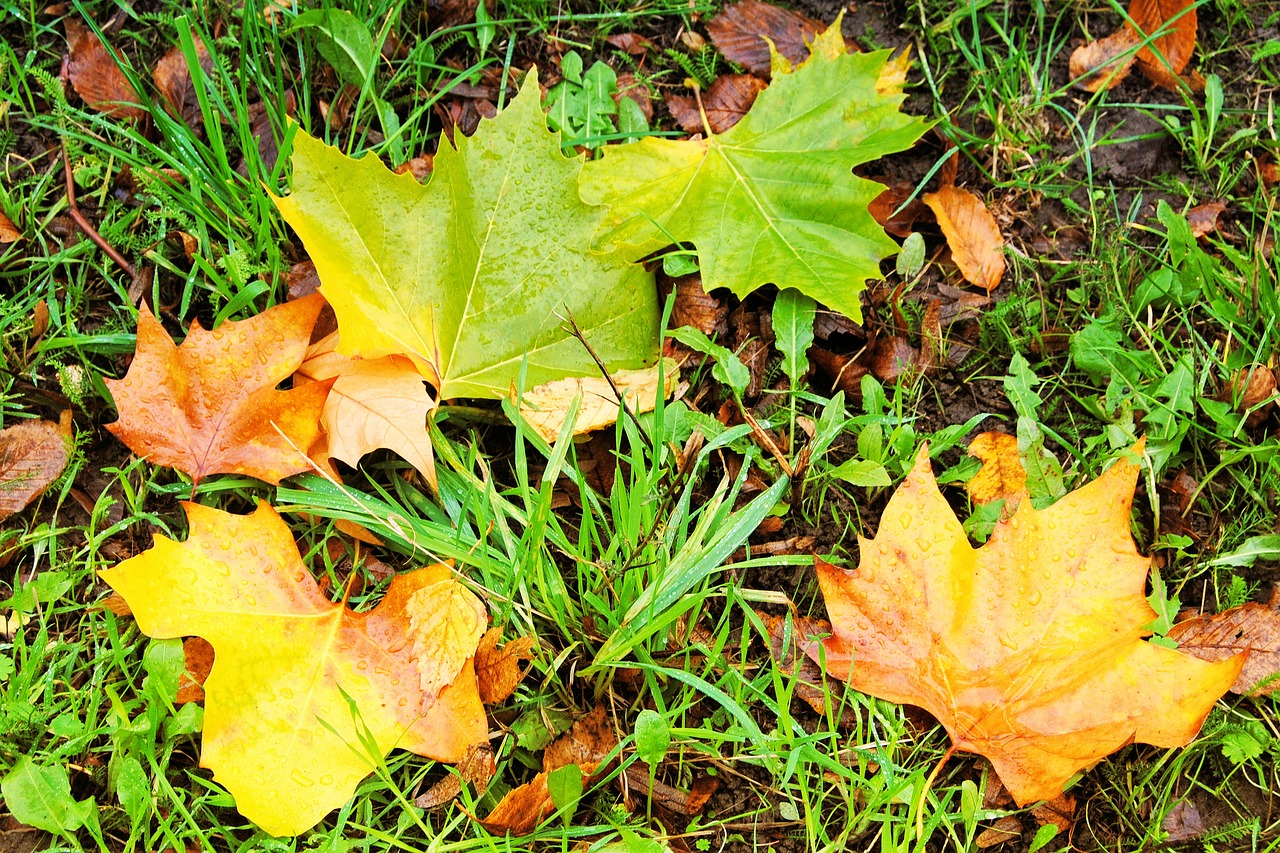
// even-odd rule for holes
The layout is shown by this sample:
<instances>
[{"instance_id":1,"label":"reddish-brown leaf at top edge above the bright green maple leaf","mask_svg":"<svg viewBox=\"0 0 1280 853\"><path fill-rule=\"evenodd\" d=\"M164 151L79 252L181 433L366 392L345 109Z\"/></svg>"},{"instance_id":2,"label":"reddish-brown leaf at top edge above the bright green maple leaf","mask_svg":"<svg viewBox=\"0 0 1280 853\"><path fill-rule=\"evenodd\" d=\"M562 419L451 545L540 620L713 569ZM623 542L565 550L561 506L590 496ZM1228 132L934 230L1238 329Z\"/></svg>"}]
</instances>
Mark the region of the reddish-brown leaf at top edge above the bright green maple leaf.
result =
<instances>
[{"instance_id":1,"label":"reddish-brown leaf at top edge above the bright green maple leaf","mask_svg":"<svg viewBox=\"0 0 1280 853\"><path fill-rule=\"evenodd\" d=\"M769 42L791 63L809 56L809 44L826 29L819 20L762 0L740 0L707 22L707 33L724 59L753 74L768 77L772 70Z\"/></svg>"}]
</instances>

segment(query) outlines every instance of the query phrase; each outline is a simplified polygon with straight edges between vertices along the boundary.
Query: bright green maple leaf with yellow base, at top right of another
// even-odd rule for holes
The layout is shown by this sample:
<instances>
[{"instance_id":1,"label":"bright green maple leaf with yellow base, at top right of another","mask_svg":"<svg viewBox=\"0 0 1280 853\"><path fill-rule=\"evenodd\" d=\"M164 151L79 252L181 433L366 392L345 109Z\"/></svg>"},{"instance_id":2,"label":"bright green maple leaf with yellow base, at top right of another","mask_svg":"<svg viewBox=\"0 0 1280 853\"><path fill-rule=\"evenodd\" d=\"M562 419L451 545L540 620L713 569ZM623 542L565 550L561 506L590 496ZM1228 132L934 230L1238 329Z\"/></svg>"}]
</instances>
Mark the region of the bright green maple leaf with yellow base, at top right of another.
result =
<instances>
[{"instance_id":1,"label":"bright green maple leaf with yellow base, at top right of another","mask_svg":"<svg viewBox=\"0 0 1280 853\"><path fill-rule=\"evenodd\" d=\"M607 147L582 173L582 197L611 206L602 245L641 257L689 241L708 289L773 282L859 319L897 243L867 210L884 187L852 168L928 128L899 111L900 86L877 91L887 55L846 53L837 20L795 70L774 54L773 82L727 132Z\"/></svg>"}]
</instances>

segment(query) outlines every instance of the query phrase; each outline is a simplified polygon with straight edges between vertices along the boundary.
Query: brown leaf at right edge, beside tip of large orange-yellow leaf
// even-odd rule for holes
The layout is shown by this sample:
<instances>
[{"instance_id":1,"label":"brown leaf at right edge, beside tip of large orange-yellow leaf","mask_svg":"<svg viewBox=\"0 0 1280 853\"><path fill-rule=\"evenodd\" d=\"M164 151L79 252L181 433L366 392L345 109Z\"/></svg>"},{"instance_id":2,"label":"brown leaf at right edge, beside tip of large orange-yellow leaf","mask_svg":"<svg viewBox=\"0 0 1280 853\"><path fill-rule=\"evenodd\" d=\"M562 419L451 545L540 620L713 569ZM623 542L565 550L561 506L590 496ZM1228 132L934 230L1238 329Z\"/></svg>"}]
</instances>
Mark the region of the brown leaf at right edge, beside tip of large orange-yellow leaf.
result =
<instances>
[{"instance_id":1,"label":"brown leaf at right edge, beside tip of large orange-yellow leaf","mask_svg":"<svg viewBox=\"0 0 1280 853\"><path fill-rule=\"evenodd\" d=\"M1280 690L1280 610L1249 602L1176 622L1167 634L1178 651L1202 661L1225 661L1248 652L1231 693Z\"/></svg>"}]
</instances>

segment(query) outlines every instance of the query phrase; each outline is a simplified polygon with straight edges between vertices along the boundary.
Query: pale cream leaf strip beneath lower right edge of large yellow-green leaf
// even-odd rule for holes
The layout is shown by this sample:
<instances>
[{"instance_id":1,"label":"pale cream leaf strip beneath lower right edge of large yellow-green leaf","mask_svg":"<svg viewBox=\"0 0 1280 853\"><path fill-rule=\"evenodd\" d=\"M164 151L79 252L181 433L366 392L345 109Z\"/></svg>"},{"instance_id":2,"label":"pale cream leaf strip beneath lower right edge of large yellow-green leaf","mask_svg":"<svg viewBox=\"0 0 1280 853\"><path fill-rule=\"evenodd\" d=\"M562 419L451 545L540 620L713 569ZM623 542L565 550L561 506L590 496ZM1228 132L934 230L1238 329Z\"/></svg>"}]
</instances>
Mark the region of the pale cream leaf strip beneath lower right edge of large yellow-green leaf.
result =
<instances>
[{"instance_id":1,"label":"pale cream leaf strip beneath lower right edge of large yellow-green leaf","mask_svg":"<svg viewBox=\"0 0 1280 853\"><path fill-rule=\"evenodd\" d=\"M662 370L662 396L669 397L680 384L680 365L672 359L664 359ZM573 434L581 435L618 420L622 407L617 394L635 414L653 411L658 403L659 365L640 370L618 370L612 377L585 377L579 379L557 379L538 386L520 394L520 415L534 428L543 441L550 443L561 433L573 400L581 394L577 419L573 421ZM511 398L515 402L516 389Z\"/></svg>"}]
</instances>

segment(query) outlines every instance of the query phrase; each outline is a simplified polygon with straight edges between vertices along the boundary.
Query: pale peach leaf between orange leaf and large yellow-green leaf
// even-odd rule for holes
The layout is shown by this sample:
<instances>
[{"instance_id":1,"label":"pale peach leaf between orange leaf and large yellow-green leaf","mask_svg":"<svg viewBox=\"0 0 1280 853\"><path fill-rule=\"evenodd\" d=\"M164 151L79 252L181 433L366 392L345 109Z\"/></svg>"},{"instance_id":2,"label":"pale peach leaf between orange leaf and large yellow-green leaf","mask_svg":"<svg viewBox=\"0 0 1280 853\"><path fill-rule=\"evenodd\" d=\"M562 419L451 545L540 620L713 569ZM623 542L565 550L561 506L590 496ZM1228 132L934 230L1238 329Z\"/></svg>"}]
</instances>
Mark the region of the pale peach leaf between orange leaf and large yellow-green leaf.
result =
<instances>
[{"instance_id":1,"label":"pale peach leaf between orange leaf and large yellow-green leaf","mask_svg":"<svg viewBox=\"0 0 1280 853\"><path fill-rule=\"evenodd\" d=\"M426 432L426 416L435 401L412 361L403 356L365 360L340 355L334 332L307 348L297 375L333 380L320 415L329 456L355 467L365 453L385 447L436 488L435 455Z\"/></svg>"}]
</instances>

